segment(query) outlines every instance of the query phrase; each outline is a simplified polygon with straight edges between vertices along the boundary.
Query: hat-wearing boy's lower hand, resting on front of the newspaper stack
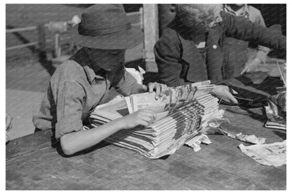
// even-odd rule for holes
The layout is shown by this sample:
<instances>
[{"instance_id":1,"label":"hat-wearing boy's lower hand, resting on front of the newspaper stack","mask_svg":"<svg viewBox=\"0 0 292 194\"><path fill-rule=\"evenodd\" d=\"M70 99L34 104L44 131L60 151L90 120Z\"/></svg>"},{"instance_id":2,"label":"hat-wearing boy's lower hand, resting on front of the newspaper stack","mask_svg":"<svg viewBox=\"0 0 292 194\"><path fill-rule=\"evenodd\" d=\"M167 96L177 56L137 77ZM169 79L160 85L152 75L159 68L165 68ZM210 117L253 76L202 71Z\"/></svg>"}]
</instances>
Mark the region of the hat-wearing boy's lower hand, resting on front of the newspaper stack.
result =
<instances>
[{"instance_id":1,"label":"hat-wearing boy's lower hand, resting on front of the newspaper stack","mask_svg":"<svg viewBox=\"0 0 292 194\"><path fill-rule=\"evenodd\" d=\"M142 109L135 111L127 116L121 118L121 123L123 123L123 129L132 129L138 125L143 125L147 127L157 118L156 113L152 110Z\"/></svg>"}]
</instances>

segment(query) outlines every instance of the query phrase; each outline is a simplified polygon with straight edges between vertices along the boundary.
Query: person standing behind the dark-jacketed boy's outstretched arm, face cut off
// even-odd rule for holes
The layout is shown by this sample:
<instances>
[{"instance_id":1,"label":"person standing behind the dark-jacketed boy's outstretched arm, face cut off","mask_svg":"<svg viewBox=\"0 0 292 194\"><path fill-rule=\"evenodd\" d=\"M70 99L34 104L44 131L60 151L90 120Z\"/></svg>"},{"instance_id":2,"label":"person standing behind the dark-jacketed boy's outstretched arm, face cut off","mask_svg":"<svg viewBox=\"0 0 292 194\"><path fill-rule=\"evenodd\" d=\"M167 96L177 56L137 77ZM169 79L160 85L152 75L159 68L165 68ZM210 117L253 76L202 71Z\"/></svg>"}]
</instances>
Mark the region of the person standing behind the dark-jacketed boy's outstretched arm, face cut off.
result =
<instances>
[{"instance_id":1,"label":"person standing behind the dark-jacketed boy's outstretched arm, face cut off","mask_svg":"<svg viewBox=\"0 0 292 194\"><path fill-rule=\"evenodd\" d=\"M265 27L265 22L260 11L247 4L224 4L223 10L231 15L250 20L253 23ZM264 46L248 48L247 41L241 41L231 37L225 37L223 41L223 74L224 78L234 78L252 71L258 64L265 63L270 49Z\"/></svg>"}]
</instances>

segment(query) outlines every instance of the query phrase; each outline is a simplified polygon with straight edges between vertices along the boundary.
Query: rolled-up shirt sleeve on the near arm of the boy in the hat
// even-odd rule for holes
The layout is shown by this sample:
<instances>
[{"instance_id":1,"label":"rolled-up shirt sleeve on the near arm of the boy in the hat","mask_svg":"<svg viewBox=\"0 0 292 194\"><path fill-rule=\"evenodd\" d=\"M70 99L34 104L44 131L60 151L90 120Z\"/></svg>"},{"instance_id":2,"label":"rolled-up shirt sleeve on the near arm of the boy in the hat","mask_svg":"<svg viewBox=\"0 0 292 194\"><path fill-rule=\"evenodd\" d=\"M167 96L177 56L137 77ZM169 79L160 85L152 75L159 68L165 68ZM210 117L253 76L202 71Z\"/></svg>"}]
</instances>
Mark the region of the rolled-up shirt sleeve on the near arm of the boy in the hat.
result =
<instances>
[{"instance_id":1,"label":"rolled-up shirt sleeve on the near arm of the boy in the hat","mask_svg":"<svg viewBox=\"0 0 292 194\"><path fill-rule=\"evenodd\" d=\"M57 123L55 124L55 137L57 139L60 139L64 134L83 129L81 117L84 98L84 89L78 83L65 81L58 85Z\"/></svg>"}]
</instances>

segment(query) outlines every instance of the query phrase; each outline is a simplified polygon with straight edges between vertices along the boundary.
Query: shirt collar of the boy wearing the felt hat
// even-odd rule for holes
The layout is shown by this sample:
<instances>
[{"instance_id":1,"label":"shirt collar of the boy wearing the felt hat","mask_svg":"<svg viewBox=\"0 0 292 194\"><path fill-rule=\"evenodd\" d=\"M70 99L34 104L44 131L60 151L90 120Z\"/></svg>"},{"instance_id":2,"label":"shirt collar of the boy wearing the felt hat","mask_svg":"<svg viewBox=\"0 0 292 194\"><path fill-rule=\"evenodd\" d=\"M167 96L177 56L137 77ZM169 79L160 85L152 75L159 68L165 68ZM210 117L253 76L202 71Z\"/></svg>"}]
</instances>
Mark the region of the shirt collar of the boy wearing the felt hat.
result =
<instances>
[{"instance_id":1,"label":"shirt collar of the boy wearing the felt hat","mask_svg":"<svg viewBox=\"0 0 292 194\"><path fill-rule=\"evenodd\" d=\"M95 78L105 79L102 76L95 74L95 71L91 66L91 62L89 61L87 53L85 52L84 48L78 50L78 52L75 55L73 55L72 58L70 59L78 62L84 68L89 83L92 84Z\"/></svg>"}]
</instances>

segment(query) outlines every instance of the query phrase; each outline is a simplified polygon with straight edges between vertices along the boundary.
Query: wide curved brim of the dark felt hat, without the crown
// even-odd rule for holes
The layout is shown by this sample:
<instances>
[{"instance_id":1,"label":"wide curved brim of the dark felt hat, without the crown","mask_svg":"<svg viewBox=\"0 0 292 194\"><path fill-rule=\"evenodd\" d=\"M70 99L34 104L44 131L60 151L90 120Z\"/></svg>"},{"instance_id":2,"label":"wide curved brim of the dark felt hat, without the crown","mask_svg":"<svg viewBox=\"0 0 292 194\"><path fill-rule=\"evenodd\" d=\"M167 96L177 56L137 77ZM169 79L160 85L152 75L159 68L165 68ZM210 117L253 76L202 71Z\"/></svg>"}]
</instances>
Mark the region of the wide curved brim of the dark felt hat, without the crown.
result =
<instances>
[{"instance_id":1,"label":"wide curved brim of the dark felt hat, without the crown","mask_svg":"<svg viewBox=\"0 0 292 194\"><path fill-rule=\"evenodd\" d=\"M142 42L143 33L140 29L131 27L126 31L104 34L99 36L79 35L78 26L69 31L71 39L80 46L103 50L134 48Z\"/></svg>"}]
</instances>

